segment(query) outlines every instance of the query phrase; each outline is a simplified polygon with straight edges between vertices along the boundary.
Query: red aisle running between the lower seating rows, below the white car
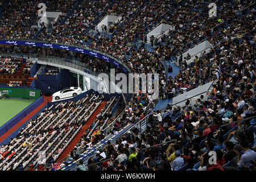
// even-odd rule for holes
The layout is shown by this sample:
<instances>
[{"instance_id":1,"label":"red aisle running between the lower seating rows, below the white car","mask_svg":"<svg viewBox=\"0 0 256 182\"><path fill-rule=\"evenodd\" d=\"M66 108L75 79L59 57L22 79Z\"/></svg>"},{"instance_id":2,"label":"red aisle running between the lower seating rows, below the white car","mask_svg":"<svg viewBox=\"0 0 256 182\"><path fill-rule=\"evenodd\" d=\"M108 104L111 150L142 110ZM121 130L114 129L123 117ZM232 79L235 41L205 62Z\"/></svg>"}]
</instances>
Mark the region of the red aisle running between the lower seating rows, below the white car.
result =
<instances>
[{"instance_id":1,"label":"red aisle running between the lower seating rows, below the white car","mask_svg":"<svg viewBox=\"0 0 256 182\"><path fill-rule=\"evenodd\" d=\"M76 137L73 138L73 140L68 144L68 146L65 148L65 150L62 152L62 154L57 158L56 161L61 161L63 160L69 152L75 148L76 144L80 141L81 137L84 135L84 131L92 125L92 123L96 120L97 115L101 112L101 109L105 106L107 101L103 101L100 106L94 111L94 113L91 115L91 117L88 119L88 121L85 123L84 126L82 126L81 130L79 133L77 133Z\"/></svg>"}]
</instances>

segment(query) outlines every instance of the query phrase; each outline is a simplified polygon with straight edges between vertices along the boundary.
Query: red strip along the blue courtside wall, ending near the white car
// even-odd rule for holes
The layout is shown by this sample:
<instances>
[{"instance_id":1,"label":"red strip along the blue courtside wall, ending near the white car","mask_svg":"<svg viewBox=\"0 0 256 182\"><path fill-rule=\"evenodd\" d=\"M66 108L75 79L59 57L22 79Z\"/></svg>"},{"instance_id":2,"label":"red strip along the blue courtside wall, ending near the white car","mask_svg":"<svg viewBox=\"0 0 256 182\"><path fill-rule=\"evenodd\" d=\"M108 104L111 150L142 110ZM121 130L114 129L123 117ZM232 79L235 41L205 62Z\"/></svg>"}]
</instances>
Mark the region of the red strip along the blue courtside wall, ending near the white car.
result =
<instances>
[{"instance_id":1,"label":"red strip along the blue courtside wall, ending near the white car","mask_svg":"<svg viewBox=\"0 0 256 182\"><path fill-rule=\"evenodd\" d=\"M52 101L52 96L43 96L44 102L36 107L31 113L29 113L26 117L24 117L20 122L18 122L16 125L14 125L10 130L8 130L5 134L3 134L0 137L0 143L3 142L7 137L9 137L14 131L16 131L20 126L22 126L25 122L27 122L29 119L31 119L36 113L38 113L39 110L43 109L44 106L47 105L47 102Z\"/></svg>"}]
</instances>

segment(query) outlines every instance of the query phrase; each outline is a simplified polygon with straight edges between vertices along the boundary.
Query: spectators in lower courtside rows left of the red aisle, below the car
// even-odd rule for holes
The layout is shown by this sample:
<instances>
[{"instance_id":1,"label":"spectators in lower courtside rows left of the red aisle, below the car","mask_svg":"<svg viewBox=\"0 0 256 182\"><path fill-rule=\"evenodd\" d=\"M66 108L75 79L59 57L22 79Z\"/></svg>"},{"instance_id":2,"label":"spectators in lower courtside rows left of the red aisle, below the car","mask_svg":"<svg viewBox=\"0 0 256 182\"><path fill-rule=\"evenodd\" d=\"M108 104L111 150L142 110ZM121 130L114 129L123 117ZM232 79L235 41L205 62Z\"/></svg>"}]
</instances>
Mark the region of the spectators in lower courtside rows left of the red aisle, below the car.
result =
<instances>
[{"instance_id":1,"label":"spectators in lower courtside rows left of the red aisle, below the car","mask_svg":"<svg viewBox=\"0 0 256 182\"><path fill-rule=\"evenodd\" d=\"M53 163L103 100L104 96L92 93L79 101L46 107L15 138L0 147L1 170L40 168Z\"/></svg>"}]
</instances>

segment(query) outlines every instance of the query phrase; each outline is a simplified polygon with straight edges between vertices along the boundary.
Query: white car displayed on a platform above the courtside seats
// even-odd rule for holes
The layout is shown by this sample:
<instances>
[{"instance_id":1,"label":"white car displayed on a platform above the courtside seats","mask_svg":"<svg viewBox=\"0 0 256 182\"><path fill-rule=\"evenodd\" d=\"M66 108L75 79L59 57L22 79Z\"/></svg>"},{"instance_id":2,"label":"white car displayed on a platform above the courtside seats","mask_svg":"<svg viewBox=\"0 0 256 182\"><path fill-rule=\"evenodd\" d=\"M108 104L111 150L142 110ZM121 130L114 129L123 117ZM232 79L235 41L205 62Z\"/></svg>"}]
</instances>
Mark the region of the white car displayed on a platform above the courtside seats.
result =
<instances>
[{"instance_id":1,"label":"white car displayed on a platform above the courtside seats","mask_svg":"<svg viewBox=\"0 0 256 182\"><path fill-rule=\"evenodd\" d=\"M60 90L59 92L55 92L52 94L52 100L60 100L63 98L71 98L71 97L76 97L82 93L82 89L80 87L68 87L64 88L63 90Z\"/></svg>"}]
</instances>

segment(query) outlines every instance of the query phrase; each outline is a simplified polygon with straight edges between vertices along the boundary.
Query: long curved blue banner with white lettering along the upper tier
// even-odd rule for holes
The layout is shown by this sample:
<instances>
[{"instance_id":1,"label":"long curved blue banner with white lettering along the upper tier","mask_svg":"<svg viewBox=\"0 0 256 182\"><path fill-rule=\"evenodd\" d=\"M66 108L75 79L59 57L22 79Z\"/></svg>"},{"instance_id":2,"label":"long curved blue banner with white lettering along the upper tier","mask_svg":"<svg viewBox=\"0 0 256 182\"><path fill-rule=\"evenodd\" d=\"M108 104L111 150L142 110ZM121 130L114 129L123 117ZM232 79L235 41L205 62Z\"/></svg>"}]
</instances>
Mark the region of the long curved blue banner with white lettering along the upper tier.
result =
<instances>
[{"instance_id":1,"label":"long curved blue banner with white lettering along the upper tier","mask_svg":"<svg viewBox=\"0 0 256 182\"><path fill-rule=\"evenodd\" d=\"M78 48L78 47L73 47L73 46L64 46L61 44L52 44L52 43L44 43L44 42L32 42L32 41L19 41L19 40L0 40L0 44L8 44L8 45L18 45L18 46L36 46L36 47L49 47L49 48L56 48L56 49L65 49L68 51L75 51L75 52L80 52L84 53L86 55L91 55L94 57L97 57L99 59L102 59L104 61L107 61L108 63L114 64L115 67L121 69L123 72L127 73L127 70L125 67L123 67L122 64L118 63L111 57L108 57L106 55L102 55L101 53L94 52L89 49L83 49L83 48Z\"/></svg>"}]
</instances>

